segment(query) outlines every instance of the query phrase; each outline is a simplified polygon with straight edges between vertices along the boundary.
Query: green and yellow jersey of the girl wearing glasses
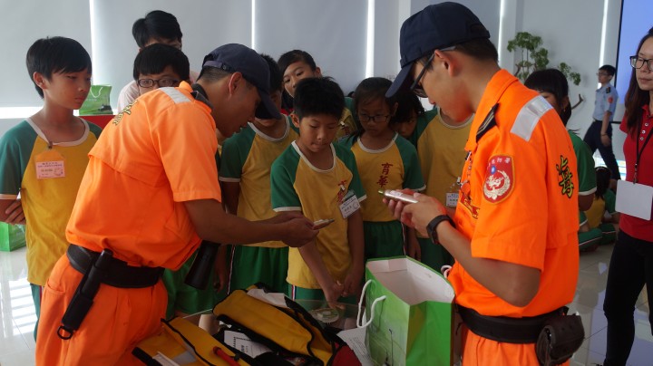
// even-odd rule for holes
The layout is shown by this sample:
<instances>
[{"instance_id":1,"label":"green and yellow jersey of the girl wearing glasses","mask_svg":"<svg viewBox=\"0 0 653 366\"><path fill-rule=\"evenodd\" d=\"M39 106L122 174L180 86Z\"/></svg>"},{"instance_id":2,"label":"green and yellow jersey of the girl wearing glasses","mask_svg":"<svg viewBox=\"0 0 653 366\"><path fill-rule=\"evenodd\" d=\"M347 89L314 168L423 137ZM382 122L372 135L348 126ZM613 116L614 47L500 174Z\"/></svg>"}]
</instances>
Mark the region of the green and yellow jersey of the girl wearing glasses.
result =
<instances>
[{"instance_id":1,"label":"green and yellow jersey of the girl wearing glasses","mask_svg":"<svg viewBox=\"0 0 653 366\"><path fill-rule=\"evenodd\" d=\"M367 149L360 138L347 139L343 146L351 149L356 157L356 167L365 192L372 195L379 190L410 188L424 190L424 178L417 151L408 140L395 133L392 141L383 149ZM363 221L395 221L381 196L370 197L361 203Z\"/></svg>"}]
</instances>

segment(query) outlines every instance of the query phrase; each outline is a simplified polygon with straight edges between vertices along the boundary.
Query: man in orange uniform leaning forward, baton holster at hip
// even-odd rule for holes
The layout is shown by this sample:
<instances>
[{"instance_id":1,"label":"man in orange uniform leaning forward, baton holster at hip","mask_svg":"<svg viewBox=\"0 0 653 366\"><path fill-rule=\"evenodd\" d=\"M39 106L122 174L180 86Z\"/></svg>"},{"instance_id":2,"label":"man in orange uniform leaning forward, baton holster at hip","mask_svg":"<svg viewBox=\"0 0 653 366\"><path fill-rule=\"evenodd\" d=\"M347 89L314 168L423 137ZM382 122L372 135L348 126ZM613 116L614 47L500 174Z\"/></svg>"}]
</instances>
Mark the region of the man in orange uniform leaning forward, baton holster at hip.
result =
<instances>
[{"instance_id":1,"label":"man in orange uniform leaning forward, baton holster at hip","mask_svg":"<svg viewBox=\"0 0 653 366\"><path fill-rule=\"evenodd\" d=\"M301 246L317 235L306 217L250 222L221 207L215 130L279 118L268 90L263 58L226 44L197 84L149 92L112 120L89 154L72 244L45 286L38 365L141 364L133 346L161 329L167 305L162 268L179 268L200 238Z\"/></svg>"}]
</instances>

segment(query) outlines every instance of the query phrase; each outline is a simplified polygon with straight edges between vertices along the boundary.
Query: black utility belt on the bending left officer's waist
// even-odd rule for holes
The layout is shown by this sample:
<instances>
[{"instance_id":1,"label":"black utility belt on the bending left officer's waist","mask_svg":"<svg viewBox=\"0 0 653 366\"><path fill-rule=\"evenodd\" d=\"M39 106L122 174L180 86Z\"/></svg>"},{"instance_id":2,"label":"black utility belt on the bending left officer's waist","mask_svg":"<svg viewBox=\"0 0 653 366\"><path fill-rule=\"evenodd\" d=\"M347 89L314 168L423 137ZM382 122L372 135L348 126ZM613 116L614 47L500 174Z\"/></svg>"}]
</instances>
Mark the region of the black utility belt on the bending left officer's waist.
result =
<instances>
[{"instance_id":1,"label":"black utility belt on the bending left officer's waist","mask_svg":"<svg viewBox=\"0 0 653 366\"><path fill-rule=\"evenodd\" d=\"M74 269L86 274L95 263L100 253L93 252L83 246L68 246L66 256ZM161 267L136 267L127 265L120 259L111 257L106 274L102 275L102 284L120 288L144 288L159 282L163 268Z\"/></svg>"}]
</instances>

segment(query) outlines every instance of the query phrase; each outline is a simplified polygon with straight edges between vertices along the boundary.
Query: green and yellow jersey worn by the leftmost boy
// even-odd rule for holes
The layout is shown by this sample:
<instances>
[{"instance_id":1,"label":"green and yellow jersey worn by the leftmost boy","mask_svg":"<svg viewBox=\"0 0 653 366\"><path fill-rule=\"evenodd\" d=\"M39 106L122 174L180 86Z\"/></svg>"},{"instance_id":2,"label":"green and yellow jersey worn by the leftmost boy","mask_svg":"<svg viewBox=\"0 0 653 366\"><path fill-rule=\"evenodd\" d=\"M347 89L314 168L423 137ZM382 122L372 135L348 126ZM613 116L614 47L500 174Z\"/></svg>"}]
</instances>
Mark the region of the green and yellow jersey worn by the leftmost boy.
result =
<instances>
[{"instance_id":1,"label":"green and yellow jersey worn by the leftmost boy","mask_svg":"<svg viewBox=\"0 0 653 366\"><path fill-rule=\"evenodd\" d=\"M68 248L65 228L88 165L88 153L102 131L83 120L76 141L48 147L44 133L24 120L0 139L0 199L20 193L27 221L27 281L45 285Z\"/></svg>"}]
</instances>

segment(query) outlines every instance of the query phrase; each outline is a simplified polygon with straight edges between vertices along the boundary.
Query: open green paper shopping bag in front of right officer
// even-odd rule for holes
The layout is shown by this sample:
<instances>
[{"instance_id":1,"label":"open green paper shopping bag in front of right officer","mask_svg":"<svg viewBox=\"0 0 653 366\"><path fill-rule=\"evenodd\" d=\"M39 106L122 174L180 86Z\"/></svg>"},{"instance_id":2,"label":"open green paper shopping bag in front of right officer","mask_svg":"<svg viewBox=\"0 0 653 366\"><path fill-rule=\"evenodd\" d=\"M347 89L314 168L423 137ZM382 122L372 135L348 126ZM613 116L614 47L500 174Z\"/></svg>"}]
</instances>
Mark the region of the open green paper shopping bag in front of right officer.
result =
<instances>
[{"instance_id":1,"label":"open green paper shopping bag in front of right officer","mask_svg":"<svg viewBox=\"0 0 653 366\"><path fill-rule=\"evenodd\" d=\"M454 293L442 274L403 256L368 261L365 279L365 343L376 365L452 363Z\"/></svg>"}]
</instances>

